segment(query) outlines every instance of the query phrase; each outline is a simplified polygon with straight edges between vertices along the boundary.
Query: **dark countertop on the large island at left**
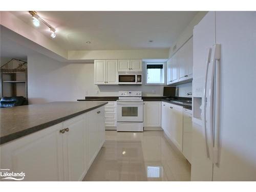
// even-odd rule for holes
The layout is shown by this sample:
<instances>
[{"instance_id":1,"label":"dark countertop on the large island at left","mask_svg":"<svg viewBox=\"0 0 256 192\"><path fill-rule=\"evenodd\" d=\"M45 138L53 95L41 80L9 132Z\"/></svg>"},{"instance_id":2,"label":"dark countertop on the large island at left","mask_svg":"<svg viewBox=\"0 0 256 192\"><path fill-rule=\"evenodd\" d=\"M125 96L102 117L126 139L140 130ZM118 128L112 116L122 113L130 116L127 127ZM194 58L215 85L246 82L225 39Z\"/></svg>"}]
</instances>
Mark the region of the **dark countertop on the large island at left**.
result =
<instances>
[{"instance_id":1,"label":"dark countertop on the large island at left","mask_svg":"<svg viewBox=\"0 0 256 192\"><path fill-rule=\"evenodd\" d=\"M58 101L0 109L0 144L89 112L108 102Z\"/></svg>"}]
</instances>

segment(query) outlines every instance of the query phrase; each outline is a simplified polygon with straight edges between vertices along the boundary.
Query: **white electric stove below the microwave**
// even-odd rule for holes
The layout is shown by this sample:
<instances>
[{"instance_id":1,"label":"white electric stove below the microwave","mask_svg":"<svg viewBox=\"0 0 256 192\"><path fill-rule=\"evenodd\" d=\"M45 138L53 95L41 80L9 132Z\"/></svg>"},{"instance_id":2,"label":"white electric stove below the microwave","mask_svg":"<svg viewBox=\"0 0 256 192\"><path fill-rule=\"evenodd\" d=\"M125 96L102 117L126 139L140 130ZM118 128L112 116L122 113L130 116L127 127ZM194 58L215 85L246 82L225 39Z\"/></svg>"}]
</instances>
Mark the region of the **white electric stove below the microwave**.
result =
<instances>
[{"instance_id":1,"label":"white electric stove below the microwave","mask_svg":"<svg viewBox=\"0 0 256 192\"><path fill-rule=\"evenodd\" d=\"M143 100L141 91L119 91L117 131L143 132Z\"/></svg>"}]
</instances>

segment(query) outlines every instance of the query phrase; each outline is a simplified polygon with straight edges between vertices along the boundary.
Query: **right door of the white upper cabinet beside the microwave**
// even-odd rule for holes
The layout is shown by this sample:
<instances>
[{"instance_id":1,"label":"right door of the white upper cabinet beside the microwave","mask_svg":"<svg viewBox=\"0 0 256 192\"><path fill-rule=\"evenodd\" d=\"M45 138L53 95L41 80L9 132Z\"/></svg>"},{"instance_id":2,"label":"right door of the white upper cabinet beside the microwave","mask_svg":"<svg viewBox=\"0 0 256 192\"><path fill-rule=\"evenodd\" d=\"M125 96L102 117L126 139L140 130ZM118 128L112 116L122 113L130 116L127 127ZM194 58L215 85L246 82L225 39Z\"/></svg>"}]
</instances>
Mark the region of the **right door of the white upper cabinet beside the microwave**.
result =
<instances>
[{"instance_id":1,"label":"right door of the white upper cabinet beside the microwave","mask_svg":"<svg viewBox=\"0 0 256 192\"><path fill-rule=\"evenodd\" d=\"M118 60L106 60L106 84L118 84Z\"/></svg>"}]
</instances>

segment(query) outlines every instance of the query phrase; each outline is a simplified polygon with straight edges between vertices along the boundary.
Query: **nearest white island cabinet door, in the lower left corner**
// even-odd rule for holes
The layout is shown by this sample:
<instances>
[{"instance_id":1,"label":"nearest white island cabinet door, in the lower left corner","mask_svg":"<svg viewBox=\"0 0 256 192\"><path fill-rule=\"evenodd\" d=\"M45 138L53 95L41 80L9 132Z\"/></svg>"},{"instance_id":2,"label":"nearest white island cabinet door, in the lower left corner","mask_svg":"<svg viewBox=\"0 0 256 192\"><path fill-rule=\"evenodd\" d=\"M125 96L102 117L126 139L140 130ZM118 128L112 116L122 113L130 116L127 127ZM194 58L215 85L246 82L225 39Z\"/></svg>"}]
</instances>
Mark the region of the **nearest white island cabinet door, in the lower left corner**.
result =
<instances>
[{"instance_id":1,"label":"nearest white island cabinet door, in the lower left corner","mask_svg":"<svg viewBox=\"0 0 256 192\"><path fill-rule=\"evenodd\" d=\"M59 123L1 145L1 168L25 173L24 181L63 181L61 129Z\"/></svg>"}]
</instances>

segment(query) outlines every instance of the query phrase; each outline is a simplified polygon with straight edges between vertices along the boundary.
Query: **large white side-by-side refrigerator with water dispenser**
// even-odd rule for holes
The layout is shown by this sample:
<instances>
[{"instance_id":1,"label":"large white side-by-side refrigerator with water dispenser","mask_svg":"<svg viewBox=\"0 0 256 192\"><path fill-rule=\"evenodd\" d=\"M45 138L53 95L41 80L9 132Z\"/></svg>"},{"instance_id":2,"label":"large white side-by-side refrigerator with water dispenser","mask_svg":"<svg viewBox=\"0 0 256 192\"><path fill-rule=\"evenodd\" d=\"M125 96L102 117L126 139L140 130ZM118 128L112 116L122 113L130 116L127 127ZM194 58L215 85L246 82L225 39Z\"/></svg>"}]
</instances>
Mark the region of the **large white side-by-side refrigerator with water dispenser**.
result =
<instances>
[{"instance_id":1,"label":"large white side-by-side refrigerator with water dispenser","mask_svg":"<svg viewBox=\"0 0 256 192\"><path fill-rule=\"evenodd\" d=\"M192 181L256 181L256 12L208 12L193 35Z\"/></svg>"}]
</instances>

